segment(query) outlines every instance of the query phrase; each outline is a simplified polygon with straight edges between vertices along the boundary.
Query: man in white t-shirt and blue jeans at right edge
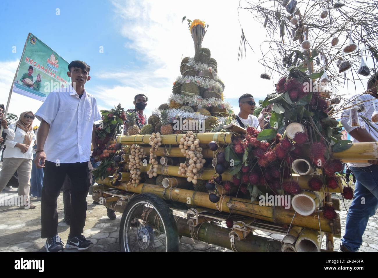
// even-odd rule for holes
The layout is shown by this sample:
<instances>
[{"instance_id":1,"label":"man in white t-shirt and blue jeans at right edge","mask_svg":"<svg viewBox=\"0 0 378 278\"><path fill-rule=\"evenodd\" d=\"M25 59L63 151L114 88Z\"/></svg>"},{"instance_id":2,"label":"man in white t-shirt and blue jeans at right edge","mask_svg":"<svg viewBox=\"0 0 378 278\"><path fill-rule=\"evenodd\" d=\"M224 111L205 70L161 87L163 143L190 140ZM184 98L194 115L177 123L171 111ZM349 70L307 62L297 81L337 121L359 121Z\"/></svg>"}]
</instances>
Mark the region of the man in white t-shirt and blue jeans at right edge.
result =
<instances>
[{"instance_id":1,"label":"man in white t-shirt and blue jeans at right edge","mask_svg":"<svg viewBox=\"0 0 378 278\"><path fill-rule=\"evenodd\" d=\"M367 118L369 121L374 112L374 107L378 108L376 101L378 98L378 73L375 73L367 82L367 91L361 95L355 95L350 98L350 103L364 108L358 116ZM358 98L358 99L357 99ZM360 120L363 125L350 126L349 110L344 110L341 114L341 124L352 137L353 142L372 142L378 141L378 132L370 125ZM376 123L370 121L372 126L378 128ZM348 163L356 177L355 190L352 205L350 205L345 223L345 235L341 239L340 251L357 252L362 244L362 236L365 232L369 217L375 214L378 208L378 165L377 160L368 161L368 163Z\"/></svg>"}]
</instances>

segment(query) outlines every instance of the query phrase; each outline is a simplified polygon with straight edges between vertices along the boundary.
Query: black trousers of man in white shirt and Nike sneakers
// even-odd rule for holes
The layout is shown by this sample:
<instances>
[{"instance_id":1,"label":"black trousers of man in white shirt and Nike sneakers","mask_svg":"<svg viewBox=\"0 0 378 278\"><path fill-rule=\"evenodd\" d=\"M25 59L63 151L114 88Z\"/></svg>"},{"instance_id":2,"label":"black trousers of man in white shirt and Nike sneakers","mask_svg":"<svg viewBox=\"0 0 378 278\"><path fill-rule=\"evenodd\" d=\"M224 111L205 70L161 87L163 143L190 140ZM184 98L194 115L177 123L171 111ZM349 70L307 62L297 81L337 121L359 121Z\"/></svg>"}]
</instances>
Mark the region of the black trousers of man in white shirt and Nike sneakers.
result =
<instances>
[{"instance_id":1,"label":"black trousers of man in white shirt and Nike sneakers","mask_svg":"<svg viewBox=\"0 0 378 278\"><path fill-rule=\"evenodd\" d=\"M41 238L52 238L58 231L57 198L66 175L71 180L71 226L70 236L83 233L87 212L87 168L89 162L45 162L41 201Z\"/></svg>"}]
</instances>

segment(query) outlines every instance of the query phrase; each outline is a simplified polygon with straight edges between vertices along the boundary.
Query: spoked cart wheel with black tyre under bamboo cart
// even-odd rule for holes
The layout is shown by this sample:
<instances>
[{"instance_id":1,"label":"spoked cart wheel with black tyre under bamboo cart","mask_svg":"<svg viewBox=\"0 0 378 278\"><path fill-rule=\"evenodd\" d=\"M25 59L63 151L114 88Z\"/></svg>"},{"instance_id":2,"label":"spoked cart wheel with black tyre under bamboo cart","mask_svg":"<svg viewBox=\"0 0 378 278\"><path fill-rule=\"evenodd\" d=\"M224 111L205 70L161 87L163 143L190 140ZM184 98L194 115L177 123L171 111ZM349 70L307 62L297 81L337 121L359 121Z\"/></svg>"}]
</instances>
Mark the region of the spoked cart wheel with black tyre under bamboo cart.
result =
<instances>
[{"instance_id":1,"label":"spoked cart wheel with black tyre under bamboo cart","mask_svg":"<svg viewBox=\"0 0 378 278\"><path fill-rule=\"evenodd\" d=\"M178 233L172 211L151 193L132 198L119 230L121 252L177 252Z\"/></svg>"}]
</instances>

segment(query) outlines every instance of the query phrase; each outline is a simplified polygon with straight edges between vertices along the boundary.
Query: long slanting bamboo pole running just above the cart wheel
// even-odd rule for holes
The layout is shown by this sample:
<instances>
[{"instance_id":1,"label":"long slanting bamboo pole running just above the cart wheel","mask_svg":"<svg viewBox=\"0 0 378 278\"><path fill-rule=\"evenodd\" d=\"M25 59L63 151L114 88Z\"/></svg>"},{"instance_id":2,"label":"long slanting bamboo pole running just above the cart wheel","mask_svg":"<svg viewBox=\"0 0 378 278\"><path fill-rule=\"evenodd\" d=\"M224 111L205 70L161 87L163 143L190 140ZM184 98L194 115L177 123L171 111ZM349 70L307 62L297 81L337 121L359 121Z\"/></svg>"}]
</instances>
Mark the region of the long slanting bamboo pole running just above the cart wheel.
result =
<instances>
[{"instance_id":1,"label":"long slanting bamboo pole running just above the cart wheel","mask_svg":"<svg viewBox=\"0 0 378 278\"><path fill-rule=\"evenodd\" d=\"M209 200L209 194L173 188L167 190L163 186L152 185L148 183L139 183L137 186L129 185L122 182L125 190L132 193L152 193L164 200L173 200L180 203L188 203L199 207L211 208L213 210L224 211L226 213L235 213L249 217L266 220L274 223L292 224L311 229L321 229L325 232L332 232L337 235L341 234L340 218L336 217L333 221L326 219L322 214L312 214L310 216L302 216L295 214L295 211L285 209L279 206L261 206L258 201L251 202L249 199L222 196L218 203L212 203ZM219 208L219 209L218 209ZM319 219L318 219L319 217Z\"/></svg>"}]
</instances>

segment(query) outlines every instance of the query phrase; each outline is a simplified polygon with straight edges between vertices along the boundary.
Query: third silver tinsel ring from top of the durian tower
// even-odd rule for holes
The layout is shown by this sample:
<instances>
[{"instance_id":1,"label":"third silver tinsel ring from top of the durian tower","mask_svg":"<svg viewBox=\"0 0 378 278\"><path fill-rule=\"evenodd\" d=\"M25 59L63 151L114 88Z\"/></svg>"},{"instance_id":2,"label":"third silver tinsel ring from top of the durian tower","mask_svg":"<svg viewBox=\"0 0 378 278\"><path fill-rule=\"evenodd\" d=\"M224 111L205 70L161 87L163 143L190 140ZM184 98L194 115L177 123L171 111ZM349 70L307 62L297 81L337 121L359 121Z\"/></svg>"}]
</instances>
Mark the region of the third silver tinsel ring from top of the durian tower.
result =
<instances>
[{"instance_id":1,"label":"third silver tinsel ring from top of the durian tower","mask_svg":"<svg viewBox=\"0 0 378 278\"><path fill-rule=\"evenodd\" d=\"M226 109L227 111L231 109L231 105L229 103L219 98L202 98L201 96L172 94L169 96L168 102L171 100L184 105L197 106L198 109L206 109L206 107L212 106L217 106L219 109Z\"/></svg>"}]
</instances>

